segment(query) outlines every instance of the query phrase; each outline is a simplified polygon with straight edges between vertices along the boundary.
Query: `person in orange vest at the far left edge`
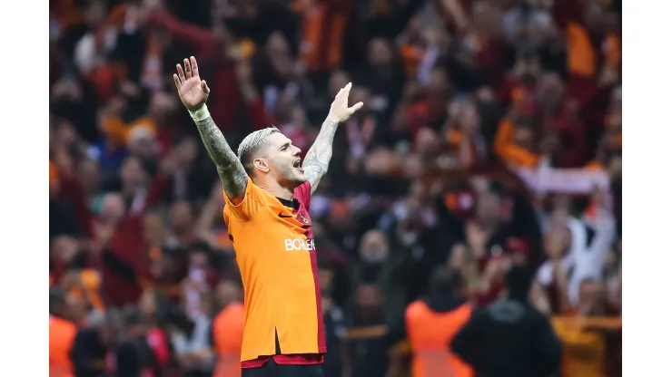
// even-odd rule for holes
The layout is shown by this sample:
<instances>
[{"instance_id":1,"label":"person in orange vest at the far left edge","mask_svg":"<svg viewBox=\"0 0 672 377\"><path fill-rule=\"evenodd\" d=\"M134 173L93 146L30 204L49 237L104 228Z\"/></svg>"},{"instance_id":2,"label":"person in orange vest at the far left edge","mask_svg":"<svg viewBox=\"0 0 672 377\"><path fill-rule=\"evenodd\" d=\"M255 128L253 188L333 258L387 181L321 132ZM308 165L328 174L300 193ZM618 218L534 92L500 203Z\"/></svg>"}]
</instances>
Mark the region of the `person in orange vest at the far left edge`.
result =
<instances>
[{"instance_id":1,"label":"person in orange vest at the far left edge","mask_svg":"<svg viewBox=\"0 0 672 377\"><path fill-rule=\"evenodd\" d=\"M67 320L65 296L49 288L49 377L74 377L70 351L77 327Z\"/></svg>"}]
</instances>

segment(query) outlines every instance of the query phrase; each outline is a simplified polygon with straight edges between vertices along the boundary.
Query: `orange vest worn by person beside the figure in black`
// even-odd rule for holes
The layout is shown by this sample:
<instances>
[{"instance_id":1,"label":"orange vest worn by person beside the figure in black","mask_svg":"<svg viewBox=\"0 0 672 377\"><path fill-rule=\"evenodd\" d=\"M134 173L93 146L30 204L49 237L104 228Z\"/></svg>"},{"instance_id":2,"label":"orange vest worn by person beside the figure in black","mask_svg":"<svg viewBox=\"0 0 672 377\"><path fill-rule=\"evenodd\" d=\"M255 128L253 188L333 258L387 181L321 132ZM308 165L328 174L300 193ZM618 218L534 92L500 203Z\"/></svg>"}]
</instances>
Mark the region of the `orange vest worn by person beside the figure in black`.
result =
<instances>
[{"instance_id":1,"label":"orange vest worn by person beside the figure in black","mask_svg":"<svg viewBox=\"0 0 672 377\"><path fill-rule=\"evenodd\" d=\"M406 330L413 354L413 377L473 377L469 365L449 350L449 344L471 316L471 305L437 313L423 301L406 309Z\"/></svg>"}]
</instances>

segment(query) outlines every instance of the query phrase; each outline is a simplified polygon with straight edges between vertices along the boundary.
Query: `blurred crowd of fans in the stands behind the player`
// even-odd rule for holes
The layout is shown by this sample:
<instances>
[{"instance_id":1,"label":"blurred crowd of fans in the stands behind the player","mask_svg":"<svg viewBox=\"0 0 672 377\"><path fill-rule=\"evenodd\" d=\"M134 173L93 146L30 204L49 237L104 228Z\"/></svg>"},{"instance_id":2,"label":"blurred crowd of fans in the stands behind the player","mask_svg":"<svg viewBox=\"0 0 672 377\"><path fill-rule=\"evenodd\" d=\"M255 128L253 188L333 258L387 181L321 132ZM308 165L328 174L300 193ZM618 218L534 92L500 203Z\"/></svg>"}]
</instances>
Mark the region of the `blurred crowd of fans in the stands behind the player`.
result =
<instances>
[{"instance_id":1,"label":"blurred crowd of fans in the stands behind the player","mask_svg":"<svg viewBox=\"0 0 672 377\"><path fill-rule=\"evenodd\" d=\"M402 318L437 267L489 304L516 264L562 375L620 375L619 0L49 4L50 362L74 370L52 375L215 372L242 285L172 82L191 55L234 150L274 124L305 152L341 87L364 102L311 201L326 376L403 375L351 330Z\"/></svg>"}]
</instances>

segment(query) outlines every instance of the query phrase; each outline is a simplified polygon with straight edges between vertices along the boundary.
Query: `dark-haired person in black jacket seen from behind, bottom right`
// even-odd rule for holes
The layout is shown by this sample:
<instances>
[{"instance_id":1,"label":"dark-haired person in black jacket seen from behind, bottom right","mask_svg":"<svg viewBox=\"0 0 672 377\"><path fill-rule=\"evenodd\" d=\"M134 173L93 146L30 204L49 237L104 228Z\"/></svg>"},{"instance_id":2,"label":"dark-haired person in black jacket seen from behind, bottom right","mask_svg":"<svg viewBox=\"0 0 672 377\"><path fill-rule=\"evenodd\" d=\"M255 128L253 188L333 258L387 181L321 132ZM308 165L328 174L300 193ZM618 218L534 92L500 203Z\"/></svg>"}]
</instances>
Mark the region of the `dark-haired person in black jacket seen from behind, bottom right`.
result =
<instances>
[{"instance_id":1,"label":"dark-haired person in black jacket seen from behind, bottom right","mask_svg":"<svg viewBox=\"0 0 672 377\"><path fill-rule=\"evenodd\" d=\"M546 315L529 303L533 273L513 266L508 297L474 313L450 343L479 377L545 377L558 372L562 353Z\"/></svg>"}]
</instances>

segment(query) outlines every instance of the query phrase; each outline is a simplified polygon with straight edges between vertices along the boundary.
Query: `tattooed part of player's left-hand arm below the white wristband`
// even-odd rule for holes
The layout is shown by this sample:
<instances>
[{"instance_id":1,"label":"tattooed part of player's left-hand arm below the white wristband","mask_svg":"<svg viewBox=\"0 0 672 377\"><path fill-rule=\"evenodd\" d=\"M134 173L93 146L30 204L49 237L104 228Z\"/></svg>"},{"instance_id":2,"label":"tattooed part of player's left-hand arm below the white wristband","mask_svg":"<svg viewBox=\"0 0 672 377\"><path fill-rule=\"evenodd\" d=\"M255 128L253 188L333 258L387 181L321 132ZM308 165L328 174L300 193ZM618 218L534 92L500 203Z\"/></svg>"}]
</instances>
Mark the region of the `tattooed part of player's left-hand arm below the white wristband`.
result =
<instances>
[{"instance_id":1,"label":"tattooed part of player's left-hand arm below the white wristband","mask_svg":"<svg viewBox=\"0 0 672 377\"><path fill-rule=\"evenodd\" d=\"M212 121L212 117L196 121L196 127L201 133L205 149L208 150L212 162L217 166L217 172L224 184L224 192L232 201L242 199L247 187L247 173L242 168L238 156L229 147L229 143Z\"/></svg>"}]
</instances>

